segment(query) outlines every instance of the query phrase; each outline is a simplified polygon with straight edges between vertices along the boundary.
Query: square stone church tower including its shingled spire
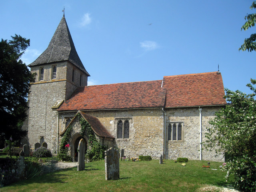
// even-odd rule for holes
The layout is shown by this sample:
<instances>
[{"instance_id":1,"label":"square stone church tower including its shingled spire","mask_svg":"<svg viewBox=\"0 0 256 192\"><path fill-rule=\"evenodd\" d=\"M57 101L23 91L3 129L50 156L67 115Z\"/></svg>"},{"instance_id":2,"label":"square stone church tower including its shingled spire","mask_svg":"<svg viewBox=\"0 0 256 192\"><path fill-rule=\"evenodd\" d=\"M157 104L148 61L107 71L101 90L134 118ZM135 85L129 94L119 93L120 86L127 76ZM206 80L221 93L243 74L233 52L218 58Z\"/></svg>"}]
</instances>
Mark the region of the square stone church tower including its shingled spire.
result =
<instances>
[{"instance_id":1,"label":"square stone church tower including its shingled spire","mask_svg":"<svg viewBox=\"0 0 256 192\"><path fill-rule=\"evenodd\" d=\"M71 38L65 16L60 20L48 48L31 64L36 81L28 96L28 120L24 128L28 138L24 143L46 142L56 153L58 114L56 108L79 86L87 86L88 72L84 68Z\"/></svg>"}]
</instances>

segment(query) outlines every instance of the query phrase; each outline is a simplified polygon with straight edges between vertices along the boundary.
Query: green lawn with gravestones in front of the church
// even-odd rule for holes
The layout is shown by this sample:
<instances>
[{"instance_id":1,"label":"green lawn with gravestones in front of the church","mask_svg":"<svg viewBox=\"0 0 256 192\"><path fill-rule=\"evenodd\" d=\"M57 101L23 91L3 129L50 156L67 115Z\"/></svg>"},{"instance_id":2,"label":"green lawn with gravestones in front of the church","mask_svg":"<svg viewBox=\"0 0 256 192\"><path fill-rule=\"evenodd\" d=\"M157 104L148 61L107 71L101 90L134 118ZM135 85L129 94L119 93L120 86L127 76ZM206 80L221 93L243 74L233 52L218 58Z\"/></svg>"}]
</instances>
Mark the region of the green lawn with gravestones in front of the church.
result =
<instances>
[{"instance_id":1,"label":"green lawn with gravestones in front of the church","mask_svg":"<svg viewBox=\"0 0 256 192\"><path fill-rule=\"evenodd\" d=\"M85 164L84 171L69 168L22 180L0 189L1 192L193 192L205 185L227 186L232 179L225 182L226 172L222 172L220 162L211 162L212 170L202 168L206 161L189 160L186 166L165 160L120 161L120 180L105 180L104 160Z\"/></svg>"}]
</instances>

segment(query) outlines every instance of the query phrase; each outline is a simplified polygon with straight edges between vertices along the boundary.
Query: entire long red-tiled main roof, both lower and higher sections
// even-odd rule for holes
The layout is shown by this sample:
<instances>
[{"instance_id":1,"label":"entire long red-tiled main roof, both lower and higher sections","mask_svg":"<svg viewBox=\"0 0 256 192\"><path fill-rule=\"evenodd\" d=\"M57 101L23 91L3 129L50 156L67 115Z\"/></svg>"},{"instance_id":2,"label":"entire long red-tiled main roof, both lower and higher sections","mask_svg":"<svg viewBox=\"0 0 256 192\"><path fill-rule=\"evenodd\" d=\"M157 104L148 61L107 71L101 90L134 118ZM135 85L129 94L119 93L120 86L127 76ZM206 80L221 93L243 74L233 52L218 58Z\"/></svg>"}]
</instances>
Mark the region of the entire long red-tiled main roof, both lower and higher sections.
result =
<instances>
[{"instance_id":1,"label":"entire long red-tiled main roof, both lower and higher sections","mask_svg":"<svg viewBox=\"0 0 256 192\"><path fill-rule=\"evenodd\" d=\"M77 88L58 111L225 105L219 72Z\"/></svg>"}]
</instances>

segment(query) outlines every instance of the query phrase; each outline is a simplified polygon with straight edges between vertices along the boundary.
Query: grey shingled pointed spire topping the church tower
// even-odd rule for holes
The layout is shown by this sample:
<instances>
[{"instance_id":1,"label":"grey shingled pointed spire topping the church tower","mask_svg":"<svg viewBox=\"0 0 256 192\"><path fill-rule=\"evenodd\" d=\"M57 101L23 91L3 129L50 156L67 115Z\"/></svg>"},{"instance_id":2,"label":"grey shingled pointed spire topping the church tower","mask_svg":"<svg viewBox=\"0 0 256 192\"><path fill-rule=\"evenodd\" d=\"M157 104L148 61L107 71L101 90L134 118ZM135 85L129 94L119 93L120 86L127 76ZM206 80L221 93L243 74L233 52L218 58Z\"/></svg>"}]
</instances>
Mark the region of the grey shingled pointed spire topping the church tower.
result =
<instances>
[{"instance_id":1,"label":"grey shingled pointed spire topping the church tower","mask_svg":"<svg viewBox=\"0 0 256 192\"><path fill-rule=\"evenodd\" d=\"M74 46L65 16L60 20L48 48L28 66L36 66L40 64L70 61L72 64L84 71L88 76L90 74L84 68Z\"/></svg>"}]
</instances>

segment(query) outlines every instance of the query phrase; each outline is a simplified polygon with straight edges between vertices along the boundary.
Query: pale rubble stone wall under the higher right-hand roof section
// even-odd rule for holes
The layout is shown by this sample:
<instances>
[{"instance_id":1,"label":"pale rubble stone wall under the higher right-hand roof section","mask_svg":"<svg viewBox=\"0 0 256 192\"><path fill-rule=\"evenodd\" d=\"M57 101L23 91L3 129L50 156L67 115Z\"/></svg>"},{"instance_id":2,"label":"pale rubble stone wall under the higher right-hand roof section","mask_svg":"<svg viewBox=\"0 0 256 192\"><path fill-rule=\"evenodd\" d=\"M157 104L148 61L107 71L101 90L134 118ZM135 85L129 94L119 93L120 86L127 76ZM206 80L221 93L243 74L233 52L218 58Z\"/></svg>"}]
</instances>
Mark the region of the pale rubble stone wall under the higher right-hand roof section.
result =
<instances>
[{"instance_id":1,"label":"pale rubble stone wall under the higher right-hand roof section","mask_svg":"<svg viewBox=\"0 0 256 192\"><path fill-rule=\"evenodd\" d=\"M219 107L202 108L202 141L205 141L209 120L214 118L214 113ZM166 158L177 159L186 157L192 160L200 159L200 119L198 108L173 108L166 109ZM168 141L168 122L184 122L182 141ZM222 155L215 156L215 152L202 151L202 160L224 161Z\"/></svg>"}]
</instances>

